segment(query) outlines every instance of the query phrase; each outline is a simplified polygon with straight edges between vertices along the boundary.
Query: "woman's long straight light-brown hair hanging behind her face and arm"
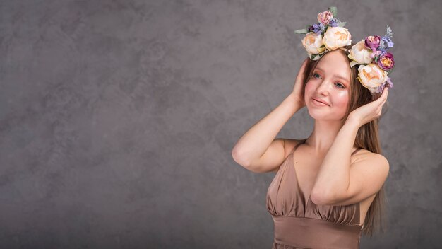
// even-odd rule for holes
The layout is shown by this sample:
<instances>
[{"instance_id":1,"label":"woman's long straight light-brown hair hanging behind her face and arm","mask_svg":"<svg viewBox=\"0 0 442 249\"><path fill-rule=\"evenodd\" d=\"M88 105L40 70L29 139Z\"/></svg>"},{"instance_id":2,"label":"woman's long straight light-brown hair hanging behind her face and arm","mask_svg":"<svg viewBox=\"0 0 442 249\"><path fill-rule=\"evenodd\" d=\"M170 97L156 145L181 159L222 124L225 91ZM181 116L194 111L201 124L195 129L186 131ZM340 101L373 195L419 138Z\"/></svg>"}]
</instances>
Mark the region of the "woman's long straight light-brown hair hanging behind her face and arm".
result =
<instances>
[{"instance_id":1,"label":"woman's long straight light-brown hair hanging behind her face and arm","mask_svg":"<svg viewBox=\"0 0 442 249\"><path fill-rule=\"evenodd\" d=\"M352 43L351 45L345 46L343 48L350 50L353 45L354 44ZM348 65L350 67L351 60L347 57L348 52L345 52L344 50L340 51L347 58ZM309 79L313 75L313 70L316 68L316 65L319 61L321 61L322 58L323 57L319 58L316 61L310 60L309 63L306 65L306 70L304 72L305 77L303 89L305 89L307 81L309 81ZM370 91L367 88L364 88L361 83L359 83L359 80L357 79L357 67L358 66L353 66L350 69L350 104L348 105L347 112L342 119L342 125L344 124L345 120L347 120L350 112L374 100ZM388 101L386 102L385 106L386 108L388 108ZM386 112L383 112L381 117L383 117L385 113ZM356 139L354 140L354 146L364 148L376 154L382 154L381 144L379 141L379 118L368 122L359 128ZM384 191L384 185L382 185L381 189L376 193L376 196L374 197L373 202L371 202L369 210L367 211L365 216L364 228L362 229L362 233L365 236L369 236L370 238L376 232L385 231L384 222L386 195Z\"/></svg>"}]
</instances>

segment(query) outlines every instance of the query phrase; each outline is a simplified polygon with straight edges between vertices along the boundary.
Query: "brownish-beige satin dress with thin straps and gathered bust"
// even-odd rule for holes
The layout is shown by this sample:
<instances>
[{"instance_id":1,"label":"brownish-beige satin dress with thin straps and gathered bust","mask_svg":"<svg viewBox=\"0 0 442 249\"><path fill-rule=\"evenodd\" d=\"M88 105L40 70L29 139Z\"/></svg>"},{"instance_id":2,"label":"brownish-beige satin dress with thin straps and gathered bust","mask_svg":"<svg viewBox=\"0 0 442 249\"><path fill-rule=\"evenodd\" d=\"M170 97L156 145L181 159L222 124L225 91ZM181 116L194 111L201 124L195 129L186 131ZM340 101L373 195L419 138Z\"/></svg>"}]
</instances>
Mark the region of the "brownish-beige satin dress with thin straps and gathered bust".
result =
<instances>
[{"instance_id":1,"label":"brownish-beige satin dress with thin straps and gathered bust","mask_svg":"<svg viewBox=\"0 0 442 249\"><path fill-rule=\"evenodd\" d=\"M292 149L268 187L266 205L275 224L272 249L359 248L359 203L316 205L301 192L293 153L305 141Z\"/></svg>"}]
</instances>

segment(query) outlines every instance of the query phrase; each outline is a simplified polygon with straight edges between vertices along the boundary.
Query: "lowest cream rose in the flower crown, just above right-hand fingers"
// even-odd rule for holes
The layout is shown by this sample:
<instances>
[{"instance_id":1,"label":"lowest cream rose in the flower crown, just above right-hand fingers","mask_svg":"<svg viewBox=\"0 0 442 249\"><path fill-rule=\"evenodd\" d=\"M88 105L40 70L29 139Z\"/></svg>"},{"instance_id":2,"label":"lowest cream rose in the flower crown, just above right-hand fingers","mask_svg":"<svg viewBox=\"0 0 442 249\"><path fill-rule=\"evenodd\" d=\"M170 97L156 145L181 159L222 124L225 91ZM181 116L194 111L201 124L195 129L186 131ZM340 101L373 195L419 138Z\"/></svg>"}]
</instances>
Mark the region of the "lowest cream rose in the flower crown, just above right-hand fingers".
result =
<instances>
[{"instance_id":1,"label":"lowest cream rose in the flower crown, just above right-hand fingers","mask_svg":"<svg viewBox=\"0 0 442 249\"><path fill-rule=\"evenodd\" d=\"M376 93L378 87L387 80L387 72L374 63L359 65L358 71L358 78L362 86L372 93Z\"/></svg>"}]
</instances>

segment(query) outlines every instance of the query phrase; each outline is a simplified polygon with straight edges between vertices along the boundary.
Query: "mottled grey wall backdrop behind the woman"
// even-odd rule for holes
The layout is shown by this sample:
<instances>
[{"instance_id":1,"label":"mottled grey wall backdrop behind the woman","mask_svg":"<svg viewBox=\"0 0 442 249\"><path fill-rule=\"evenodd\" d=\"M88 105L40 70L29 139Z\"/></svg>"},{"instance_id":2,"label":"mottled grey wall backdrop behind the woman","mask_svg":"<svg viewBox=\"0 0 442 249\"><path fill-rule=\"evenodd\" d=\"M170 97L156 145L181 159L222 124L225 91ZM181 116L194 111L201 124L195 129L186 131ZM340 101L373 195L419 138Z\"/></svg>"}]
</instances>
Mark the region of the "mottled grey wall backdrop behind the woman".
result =
<instances>
[{"instance_id":1,"label":"mottled grey wall backdrop behind the woman","mask_svg":"<svg viewBox=\"0 0 442 249\"><path fill-rule=\"evenodd\" d=\"M395 42L388 233L361 248L441 248L442 4L385 2L1 1L0 248L270 248L274 173L231 151L328 6ZM278 137L312 125L304 108Z\"/></svg>"}]
</instances>

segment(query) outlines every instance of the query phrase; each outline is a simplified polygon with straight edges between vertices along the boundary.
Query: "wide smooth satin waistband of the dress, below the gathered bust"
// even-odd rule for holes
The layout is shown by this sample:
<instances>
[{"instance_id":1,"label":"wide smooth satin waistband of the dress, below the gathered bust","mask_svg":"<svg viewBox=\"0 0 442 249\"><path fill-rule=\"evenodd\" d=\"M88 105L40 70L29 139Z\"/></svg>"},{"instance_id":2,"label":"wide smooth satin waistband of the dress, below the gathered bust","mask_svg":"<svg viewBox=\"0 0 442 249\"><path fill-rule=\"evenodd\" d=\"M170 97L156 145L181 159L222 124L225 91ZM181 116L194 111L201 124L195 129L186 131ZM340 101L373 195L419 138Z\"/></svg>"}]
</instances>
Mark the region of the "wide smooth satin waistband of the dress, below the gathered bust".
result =
<instances>
[{"instance_id":1,"label":"wide smooth satin waistband of the dress, below the gathered bust","mask_svg":"<svg viewBox=\"0 0 442 249\"><path fill-rule=\"evenodd\" d=\"M275 243L301 248L359 248L362 226L322 219L274 216Z\"/></svg>"}]
</instances>

